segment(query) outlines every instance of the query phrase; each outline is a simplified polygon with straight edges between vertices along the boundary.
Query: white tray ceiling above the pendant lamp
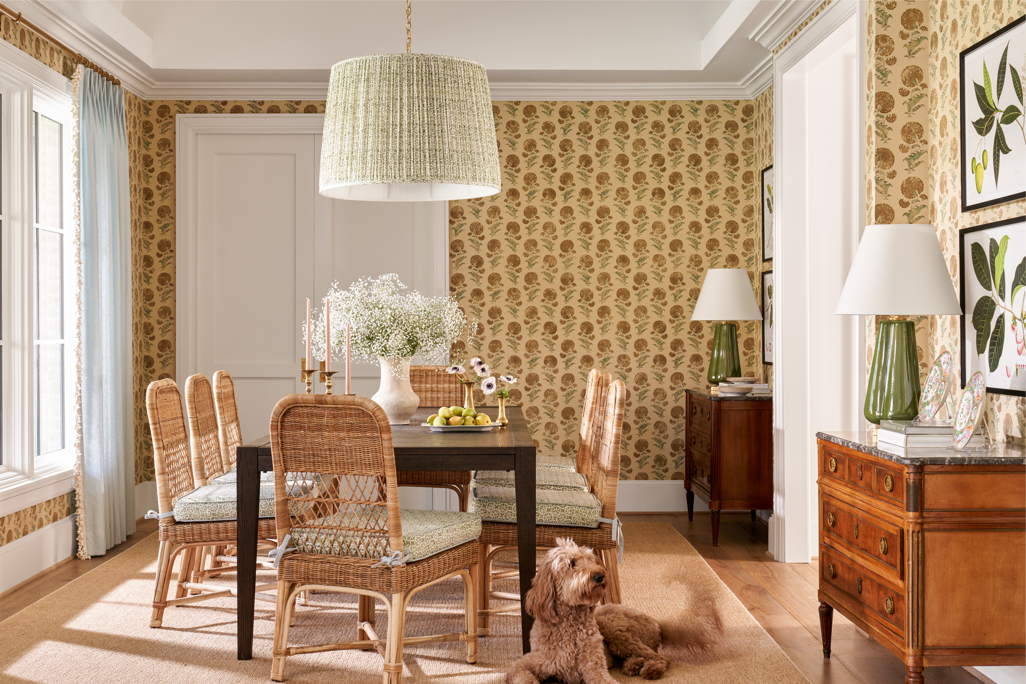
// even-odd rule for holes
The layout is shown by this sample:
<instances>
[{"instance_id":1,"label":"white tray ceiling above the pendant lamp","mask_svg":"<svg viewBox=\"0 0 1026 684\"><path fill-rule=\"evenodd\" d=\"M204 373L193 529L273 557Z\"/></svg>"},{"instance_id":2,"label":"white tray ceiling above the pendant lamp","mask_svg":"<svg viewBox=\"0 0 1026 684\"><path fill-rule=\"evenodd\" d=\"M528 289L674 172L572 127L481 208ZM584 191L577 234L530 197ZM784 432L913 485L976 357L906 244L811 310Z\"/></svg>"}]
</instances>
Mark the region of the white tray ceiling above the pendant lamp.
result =
<instances>
[{"instance_id":1,"label":"white tray ceiling above the pendant lamp","mask_svg":"<svg viewBox=\"0 0 1026 684\"><path fill-rule=\"evenodd\" d=\"M404 0L10 4L148 97L322 97L334 63L405 50ZM497 98L751 96L817 4L415 0L412 50L481 63Z\"/></svg>"}]
</instances>

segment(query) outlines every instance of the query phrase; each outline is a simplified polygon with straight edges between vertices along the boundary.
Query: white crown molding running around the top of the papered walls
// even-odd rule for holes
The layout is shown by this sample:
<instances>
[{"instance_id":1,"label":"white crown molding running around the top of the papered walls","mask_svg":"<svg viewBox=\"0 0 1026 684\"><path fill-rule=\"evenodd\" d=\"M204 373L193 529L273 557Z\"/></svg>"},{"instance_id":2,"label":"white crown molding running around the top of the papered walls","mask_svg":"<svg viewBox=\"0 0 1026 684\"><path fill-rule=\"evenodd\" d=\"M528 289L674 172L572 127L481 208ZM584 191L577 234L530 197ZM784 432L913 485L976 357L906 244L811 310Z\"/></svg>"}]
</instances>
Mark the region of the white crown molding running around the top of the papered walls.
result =
<instances>
[{"instance_id":1,"label":"white crown molding running around the top of the papered walls","mask_svg":"<svg viewBox=\"0 0 1026 684\"><path fill-rule=\"evenodd\" d=\"M808 4L805 7L805 4ZM327 97L327 81L322 82L240 82L240 81L157 81L145 73L145 67L132 64L106 47L102 41L83 31L40 0L11 0L11 6L25 14L40 29L69 47L85 55L113 76L121 85L144 99L301 99L321 100ZM780 17L797 26L817 3L810 0L782 0L767 19ZM800 16L793 8L800 5ZM792 8L790 11L788 8ZM784 15L790 17L785 21ZM763 23L763 27L767 24ZM774 25L776 26L776 24ZM768 29L767 29L768 30ZM793 30L788 29L783 35ZM757 32L763 31L760 27ZM763 31L765 33L765 31ZM776 44L774 45L776 47ZM772 48L770 48L772 49ZM508 99L751 99L773 83L773 58L752 70L737 82L677 83L491 83L491 98Z\"/></svg>"}]
</instances>

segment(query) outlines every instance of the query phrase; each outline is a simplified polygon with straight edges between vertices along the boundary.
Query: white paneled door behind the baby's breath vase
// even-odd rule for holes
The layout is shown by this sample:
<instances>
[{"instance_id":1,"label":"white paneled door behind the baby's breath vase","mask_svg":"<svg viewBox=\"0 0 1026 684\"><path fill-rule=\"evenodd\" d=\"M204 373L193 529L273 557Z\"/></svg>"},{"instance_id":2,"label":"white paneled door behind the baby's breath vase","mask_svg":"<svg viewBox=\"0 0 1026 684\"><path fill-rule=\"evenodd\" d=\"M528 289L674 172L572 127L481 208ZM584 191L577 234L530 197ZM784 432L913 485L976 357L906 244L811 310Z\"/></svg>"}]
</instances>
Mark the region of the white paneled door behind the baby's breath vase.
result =
<instances>
[{"instance_id":1,"label":"white paneled door behind the baby's breath vase","mask_svg":"<svg viewBox=\"0 0 1026 684\"><path fill-rule=\"evenodd\" d=\"M322 126L313 114L177 117L177 380L231 372L247 441L269 432L278 399L305 391L307 297L383 273L448 291L446 203L321 197ZM354 393L379 381L376 364L353 364Z\"/></svg>"}]
</instances>

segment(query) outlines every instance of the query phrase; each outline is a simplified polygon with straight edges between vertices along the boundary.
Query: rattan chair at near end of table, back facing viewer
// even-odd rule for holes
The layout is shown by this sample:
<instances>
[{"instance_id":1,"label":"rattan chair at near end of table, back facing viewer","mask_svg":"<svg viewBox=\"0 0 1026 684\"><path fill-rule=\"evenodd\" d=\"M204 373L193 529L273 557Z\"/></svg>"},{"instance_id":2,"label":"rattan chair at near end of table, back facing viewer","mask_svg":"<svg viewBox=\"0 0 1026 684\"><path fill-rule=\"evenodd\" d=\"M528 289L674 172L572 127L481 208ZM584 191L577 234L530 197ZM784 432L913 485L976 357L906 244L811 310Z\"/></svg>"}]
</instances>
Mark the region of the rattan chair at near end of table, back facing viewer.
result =
<instances>
[{"instance_id":1,"label":"rattan chair at near end of table, back facing viewer","mask_svg":"<svg viewBox=\"0 0 1026 684\"><path fill-rule=\"evenodd\" d=\"M400 511L392 429L369 399L290 395L271 415L275 477L278 606L271 679L301 653L377 649L384 682L402 678L403 644L466 641L477 660L474 615L480 519L469 513ZM286 488L288 481L307 483ZM410 599L449 578L464 582L466 632L403 638ZM357 640L288 646L294 597L303 591L357 594ZM388 611L388 634L374 631L374 601Z\"/></svg>"}]
</instances>

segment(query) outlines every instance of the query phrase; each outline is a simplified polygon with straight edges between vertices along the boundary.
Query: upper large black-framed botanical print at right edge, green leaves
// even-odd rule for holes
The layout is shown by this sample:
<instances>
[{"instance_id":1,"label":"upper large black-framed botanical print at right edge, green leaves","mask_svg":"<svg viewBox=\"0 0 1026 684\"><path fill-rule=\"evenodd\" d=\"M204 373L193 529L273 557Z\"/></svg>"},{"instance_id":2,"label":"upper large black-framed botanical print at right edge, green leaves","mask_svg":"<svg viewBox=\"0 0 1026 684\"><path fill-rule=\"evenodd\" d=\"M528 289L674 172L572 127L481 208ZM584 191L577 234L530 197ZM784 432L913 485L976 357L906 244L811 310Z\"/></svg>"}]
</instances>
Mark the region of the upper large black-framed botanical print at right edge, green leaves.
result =
<instances>
[{"instance_id":1,"label":"upper large black-framed botanical print at right edge, green leaves","mask_svg":"<svg viewBox=\"0 0 1026 684\"><path fill-rule=\"evenodd\" d=\"M1026 16L959 55L962 211L1026 197L1024 64Z\"/></svg>"}]
</instances>

